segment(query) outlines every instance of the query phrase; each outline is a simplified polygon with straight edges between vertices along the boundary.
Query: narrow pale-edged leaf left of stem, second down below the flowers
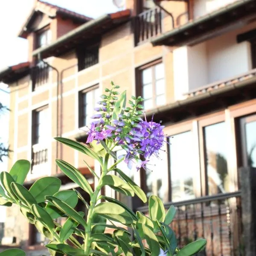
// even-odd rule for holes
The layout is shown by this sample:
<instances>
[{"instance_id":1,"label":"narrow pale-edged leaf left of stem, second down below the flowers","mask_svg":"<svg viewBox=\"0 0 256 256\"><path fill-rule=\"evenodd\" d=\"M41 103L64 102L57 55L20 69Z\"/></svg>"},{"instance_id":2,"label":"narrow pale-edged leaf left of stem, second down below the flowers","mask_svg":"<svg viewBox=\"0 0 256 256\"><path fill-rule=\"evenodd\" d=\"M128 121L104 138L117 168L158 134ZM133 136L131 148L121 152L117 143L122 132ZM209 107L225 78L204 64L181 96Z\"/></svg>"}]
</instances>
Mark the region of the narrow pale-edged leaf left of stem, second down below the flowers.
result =
<instances>
[{"instance_id":1,"label":"narrow pale-edged leaf left of stem, second down below the flowers","mask_svg":"<svg viewBox=\"0 0 256 256\"><path fill-rule=\"evenodd\" d=\"M67 175L67 177L69 177L77 185L84 189L84 191L86 191L90 196L93 195L93 189L91 188L84 175L82 175L78 169L63 160L57 159L56 163L61 171L64 172L65 175Z\"/></svg>"}]
</instances>

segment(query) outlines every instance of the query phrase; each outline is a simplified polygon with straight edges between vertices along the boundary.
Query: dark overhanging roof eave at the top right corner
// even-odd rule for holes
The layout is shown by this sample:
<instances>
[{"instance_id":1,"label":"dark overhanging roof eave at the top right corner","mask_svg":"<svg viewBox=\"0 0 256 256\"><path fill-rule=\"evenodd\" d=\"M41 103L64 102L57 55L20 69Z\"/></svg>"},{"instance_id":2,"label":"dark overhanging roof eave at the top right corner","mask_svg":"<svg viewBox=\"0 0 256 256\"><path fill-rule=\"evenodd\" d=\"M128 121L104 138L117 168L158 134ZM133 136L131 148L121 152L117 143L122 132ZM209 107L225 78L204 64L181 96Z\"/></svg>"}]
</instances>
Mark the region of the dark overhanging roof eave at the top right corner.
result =
<instances>
[{"instance_id":1,"label":"dark overhanging roof eave at the top right corner","mask_svg":"<svg viewBox=\"0 0 256 256\"><path fill-rule=\"evenodd\" d=\"M154 46L196 44L207 40L207 36L212 36L211 33L221 33L221 29L227 31L229 24L239 25L239 20L244 20L246 17L255 18L255 11L255 0L238 0L207 15L189 20L188 23L153 38L151 43Z\"/></svg>"}]
</instances>

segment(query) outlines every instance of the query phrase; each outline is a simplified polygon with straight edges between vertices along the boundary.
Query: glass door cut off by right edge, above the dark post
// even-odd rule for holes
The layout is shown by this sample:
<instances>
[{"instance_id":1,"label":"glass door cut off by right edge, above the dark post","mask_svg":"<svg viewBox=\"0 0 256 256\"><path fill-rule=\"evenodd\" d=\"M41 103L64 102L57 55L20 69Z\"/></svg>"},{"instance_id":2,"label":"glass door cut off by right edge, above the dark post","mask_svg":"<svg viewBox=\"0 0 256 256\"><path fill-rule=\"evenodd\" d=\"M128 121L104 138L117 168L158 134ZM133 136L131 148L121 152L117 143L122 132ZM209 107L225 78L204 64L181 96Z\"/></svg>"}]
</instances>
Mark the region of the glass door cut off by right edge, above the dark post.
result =
<instances>
[{"instance_id":1,"label":"glass door cut off by right edge, above the dark post","mask_svg":"<svg viewBox=\"0 0 256 256\"><path fill-rule=\"evenodd\" d=\"M239 166L256 168L256 115L240 119L240 163Z\"/></svg>"}]
</instances>

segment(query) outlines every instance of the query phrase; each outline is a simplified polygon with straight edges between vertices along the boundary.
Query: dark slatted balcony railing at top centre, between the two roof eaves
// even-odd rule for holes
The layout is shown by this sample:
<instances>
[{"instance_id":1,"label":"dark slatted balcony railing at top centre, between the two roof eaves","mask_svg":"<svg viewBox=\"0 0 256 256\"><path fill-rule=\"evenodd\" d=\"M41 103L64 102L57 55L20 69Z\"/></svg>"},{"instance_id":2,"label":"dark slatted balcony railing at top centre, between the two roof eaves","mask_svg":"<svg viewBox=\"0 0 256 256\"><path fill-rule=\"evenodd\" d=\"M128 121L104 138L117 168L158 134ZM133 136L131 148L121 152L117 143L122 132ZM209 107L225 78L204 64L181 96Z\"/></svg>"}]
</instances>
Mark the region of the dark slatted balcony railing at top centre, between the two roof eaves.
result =
<instances>
[{"instance_id":1,"label":"dark slatted balcony railing at top centre, between the two roof eaves","mask_svg":"<svg viewBox=\"0 0 256 256\"><path fill-rule=\"evenodd\" d=\"M162 11L159 7L140 13L134 19L135 44L162 33Z\"/></svg>"}]
</instances>

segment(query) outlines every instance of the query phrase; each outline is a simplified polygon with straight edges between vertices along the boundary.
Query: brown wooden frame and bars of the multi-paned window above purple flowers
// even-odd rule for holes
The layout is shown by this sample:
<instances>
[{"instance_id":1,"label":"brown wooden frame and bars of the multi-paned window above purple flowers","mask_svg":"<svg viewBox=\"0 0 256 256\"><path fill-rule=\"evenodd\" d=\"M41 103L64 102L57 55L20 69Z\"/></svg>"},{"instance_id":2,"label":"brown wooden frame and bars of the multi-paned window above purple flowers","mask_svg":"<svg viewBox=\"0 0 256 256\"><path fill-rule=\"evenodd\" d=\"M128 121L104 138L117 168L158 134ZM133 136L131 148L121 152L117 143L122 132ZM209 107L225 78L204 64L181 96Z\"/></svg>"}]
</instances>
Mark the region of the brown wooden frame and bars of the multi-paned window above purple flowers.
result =
<instances>
[{"instance_id":1,"label":"brown wooden frame and bars of the multi-paned window above purple flowers","mask_svg":"<svg viewBox=\"0 0 256 256\"><path fill-rule=\"evenodd\" d=\"M154 108L157 108L158 105L156 105L156 98L157 98L157 94L156 94L156 79L155 79L155 72L154 72L154 67L157 65L157 64L160 64L162 63L163 64L163 68L165 69L165 65L164 65L164 62L163 62L163 59L162 58L158 58L154 61L151 61L151 62L148 62L147 64L144 64L140 67L137 67L136 70L135 70L135 80L136 80L136 95L137 96L143 96L143 70L146 70L148 68L151 68L152 69L152 108L149 108L149 109L146 109L145 111L149 111L151 109L154 109ZM165 71L165 70L164 70ZM165 91L166 91L166 76L165 76L165 72L164 72L164 76L163 76L163 79L164 79L164 84L165 84ZM166 93L164 94L166 95Z\"/></svg>"}]
</instances>

